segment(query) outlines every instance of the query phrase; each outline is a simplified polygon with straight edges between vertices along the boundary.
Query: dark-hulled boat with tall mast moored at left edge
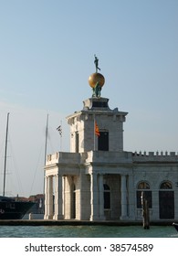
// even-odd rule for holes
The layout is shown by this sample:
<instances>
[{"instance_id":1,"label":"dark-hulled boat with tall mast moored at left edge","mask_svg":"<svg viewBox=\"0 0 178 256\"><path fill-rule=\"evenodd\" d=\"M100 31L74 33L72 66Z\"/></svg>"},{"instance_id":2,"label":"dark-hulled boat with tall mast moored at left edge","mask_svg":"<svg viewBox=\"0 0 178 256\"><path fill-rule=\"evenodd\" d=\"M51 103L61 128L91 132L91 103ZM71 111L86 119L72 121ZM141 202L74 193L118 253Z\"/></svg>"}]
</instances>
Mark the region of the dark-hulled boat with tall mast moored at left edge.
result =
<instances>
[{"instance_id":1,"label":"dark-hulled boat with tall mast moored at left edge","mask_svg":"<svg viewBox=\"0 0 178 256\"><path fill-rule=\"evenodd\" d=\"M5 197L5 174L6 174L6 152L8 136L9 112L7 113L6 136L5 136L5 168L3 196L0 196L0 219L23 219L26 212L35 205L35 202L22 201L15 197Z\"/></svg>"}]
</instances>

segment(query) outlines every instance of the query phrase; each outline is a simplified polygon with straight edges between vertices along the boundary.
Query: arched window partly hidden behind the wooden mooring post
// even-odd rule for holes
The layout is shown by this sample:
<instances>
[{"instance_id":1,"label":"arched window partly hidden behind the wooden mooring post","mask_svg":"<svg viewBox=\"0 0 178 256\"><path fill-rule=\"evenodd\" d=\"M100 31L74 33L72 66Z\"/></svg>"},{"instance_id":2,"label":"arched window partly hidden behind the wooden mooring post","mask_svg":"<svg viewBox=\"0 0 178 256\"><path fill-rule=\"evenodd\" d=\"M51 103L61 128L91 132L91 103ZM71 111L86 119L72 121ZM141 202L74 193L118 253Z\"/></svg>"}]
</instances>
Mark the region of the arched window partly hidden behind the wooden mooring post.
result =
<instances>
[{"instance_id":1,"label":"arched window partly hidden behind the wooden mooring post","mask_svg":"<svg viewBox=\"0 0 178 256\"><path fill-rule=\"evenodd\" d=\"M141 181L137 186L137 208L141 208L141 192L144 192L144 197L147 199L149 208L152 208L152 191L148 182Z\"/></svg>"}]
</instances>

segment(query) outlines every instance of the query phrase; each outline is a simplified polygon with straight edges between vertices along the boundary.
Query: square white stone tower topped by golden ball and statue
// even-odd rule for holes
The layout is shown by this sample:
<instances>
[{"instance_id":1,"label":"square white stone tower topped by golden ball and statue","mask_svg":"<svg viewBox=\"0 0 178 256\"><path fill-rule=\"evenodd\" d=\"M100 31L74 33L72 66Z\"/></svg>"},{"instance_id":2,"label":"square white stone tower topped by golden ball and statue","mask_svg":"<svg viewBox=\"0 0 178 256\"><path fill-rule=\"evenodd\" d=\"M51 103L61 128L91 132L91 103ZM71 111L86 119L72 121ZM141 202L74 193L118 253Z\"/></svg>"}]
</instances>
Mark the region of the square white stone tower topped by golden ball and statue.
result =
<instances>
[{"instance_id":1,"label":"square white stone tower topped by golden ball and statue","mask_svg":"<svg viewBox=\"0 0 178 256\"><path fill-rule=\"evenodd\" d=\"M67 117L70 152L123 151L123 123L127 112L120 112L118 108L110 110L109 99L100 97L105 78L98 73L97 67L96 72L89 76L92 97L83 101L81 111ZM99 129L98 135L95 133L96 127Z\"/></svg>"}]
</instances>

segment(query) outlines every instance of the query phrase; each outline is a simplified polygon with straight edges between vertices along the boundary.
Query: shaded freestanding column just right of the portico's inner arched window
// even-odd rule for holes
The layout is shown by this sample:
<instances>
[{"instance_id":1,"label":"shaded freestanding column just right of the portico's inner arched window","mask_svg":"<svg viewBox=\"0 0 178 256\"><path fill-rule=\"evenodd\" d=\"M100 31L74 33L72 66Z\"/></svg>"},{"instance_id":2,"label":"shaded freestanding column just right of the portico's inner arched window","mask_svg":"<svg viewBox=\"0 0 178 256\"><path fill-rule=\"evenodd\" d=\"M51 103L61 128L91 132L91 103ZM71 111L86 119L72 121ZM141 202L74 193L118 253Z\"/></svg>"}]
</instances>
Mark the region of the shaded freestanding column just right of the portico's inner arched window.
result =
<instances>
[{"instance_id":1,"label":"shaded freestanding column just right of the portico's inner arched window","mask_svg":"<svg viewBox=\"0 0 178 256\"><path fill-rule=\"evenodd\" d=\"M126 176L121 175L121 216L120 219L128 219L127 214L127 187Z\"/></svg>"}]
</instances>

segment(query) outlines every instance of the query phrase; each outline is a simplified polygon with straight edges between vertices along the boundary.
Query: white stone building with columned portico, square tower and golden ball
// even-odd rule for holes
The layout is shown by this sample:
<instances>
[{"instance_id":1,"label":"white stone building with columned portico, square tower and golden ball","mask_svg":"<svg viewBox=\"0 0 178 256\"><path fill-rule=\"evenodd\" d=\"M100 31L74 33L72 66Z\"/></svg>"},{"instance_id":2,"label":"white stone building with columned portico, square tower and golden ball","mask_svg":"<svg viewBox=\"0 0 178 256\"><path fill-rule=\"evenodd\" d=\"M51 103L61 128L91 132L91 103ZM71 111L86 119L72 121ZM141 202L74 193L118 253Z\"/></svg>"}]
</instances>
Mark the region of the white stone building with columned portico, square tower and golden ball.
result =
<instances>
[{"instance_id":1,"label":"white stone building with columned portico, square tower and golden ball","mask_svg":"<svg viewBox=\"0 0 178 256\"><path fill-rule=\"evenodd\" d=\"M124 151L127 112L110 110L103 84L92 74L92 97L67 117L70 152L47 155L44 218L140 220L144 191L151 220L178 219L178 155Z\"/></svg>"}]
</instances>

